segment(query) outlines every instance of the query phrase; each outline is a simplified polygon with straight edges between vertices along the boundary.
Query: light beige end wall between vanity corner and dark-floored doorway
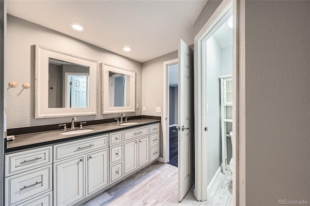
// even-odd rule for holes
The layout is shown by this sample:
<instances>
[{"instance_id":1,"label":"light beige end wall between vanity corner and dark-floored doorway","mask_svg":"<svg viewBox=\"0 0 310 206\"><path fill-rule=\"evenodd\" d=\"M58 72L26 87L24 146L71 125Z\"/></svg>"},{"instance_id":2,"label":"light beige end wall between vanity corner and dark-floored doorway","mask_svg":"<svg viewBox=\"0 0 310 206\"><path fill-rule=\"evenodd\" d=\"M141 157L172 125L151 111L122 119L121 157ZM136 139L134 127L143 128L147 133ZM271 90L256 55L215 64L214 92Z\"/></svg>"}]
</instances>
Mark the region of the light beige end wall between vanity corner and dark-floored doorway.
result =
<instances>
[{"instance_id":1,"label":"light beige end wall between vanity corner and dark-floored doorway","mask_svg":"<svg viewBox=\"0 0 310 206\"><path fill-rule=\"evenodd\" d=\"M163 107L163 62L178 58L178 51L157 57L142 64L142 106L146 111L142 115L160 116L156 106ZM160 129L160 157L163 157L163 134Z\"/></svg>"}]
</instances>

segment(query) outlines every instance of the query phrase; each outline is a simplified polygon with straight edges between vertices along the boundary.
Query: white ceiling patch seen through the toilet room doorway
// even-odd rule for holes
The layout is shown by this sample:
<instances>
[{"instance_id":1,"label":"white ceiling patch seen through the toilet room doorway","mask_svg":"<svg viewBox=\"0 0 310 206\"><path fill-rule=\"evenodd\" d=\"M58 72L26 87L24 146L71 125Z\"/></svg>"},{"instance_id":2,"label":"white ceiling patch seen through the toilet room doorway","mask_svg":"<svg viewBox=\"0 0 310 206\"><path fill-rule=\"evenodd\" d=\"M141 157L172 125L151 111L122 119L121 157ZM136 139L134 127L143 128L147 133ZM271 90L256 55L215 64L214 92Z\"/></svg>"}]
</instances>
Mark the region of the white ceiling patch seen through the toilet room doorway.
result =
<instances>
[{"instance_id":1,"label":"white ceiling patch seen through the toilet room doorway","mask_svg":"<svg viewBox=\"0 0 310 206\"><path fill-rule=\"evenodd\" d=\"M221 48L233 45L233 29L227 25L227 20L213 35Z\"/></svg>"}]
</instances>

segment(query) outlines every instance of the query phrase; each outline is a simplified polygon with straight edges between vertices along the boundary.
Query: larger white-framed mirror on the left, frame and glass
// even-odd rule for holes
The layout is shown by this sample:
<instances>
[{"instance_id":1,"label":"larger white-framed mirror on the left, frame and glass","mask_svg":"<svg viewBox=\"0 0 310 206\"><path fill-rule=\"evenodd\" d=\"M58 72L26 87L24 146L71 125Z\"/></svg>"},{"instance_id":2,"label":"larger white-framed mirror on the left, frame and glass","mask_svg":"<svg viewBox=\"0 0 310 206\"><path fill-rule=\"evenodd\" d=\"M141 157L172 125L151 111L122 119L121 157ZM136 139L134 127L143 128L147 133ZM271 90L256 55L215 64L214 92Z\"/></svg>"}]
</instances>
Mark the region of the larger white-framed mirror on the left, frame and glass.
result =
<instances>
[{"instance_id":1,"label":"larger white-framed mirror on the left, frame and glass","mask_svg":"<svg viewBox=\"0 0 310 206\"><path fill-rule=\"evenodd\" d=\"M96 115L97 61L35 45L35 118Z\"/></svg>"}]
</instances>

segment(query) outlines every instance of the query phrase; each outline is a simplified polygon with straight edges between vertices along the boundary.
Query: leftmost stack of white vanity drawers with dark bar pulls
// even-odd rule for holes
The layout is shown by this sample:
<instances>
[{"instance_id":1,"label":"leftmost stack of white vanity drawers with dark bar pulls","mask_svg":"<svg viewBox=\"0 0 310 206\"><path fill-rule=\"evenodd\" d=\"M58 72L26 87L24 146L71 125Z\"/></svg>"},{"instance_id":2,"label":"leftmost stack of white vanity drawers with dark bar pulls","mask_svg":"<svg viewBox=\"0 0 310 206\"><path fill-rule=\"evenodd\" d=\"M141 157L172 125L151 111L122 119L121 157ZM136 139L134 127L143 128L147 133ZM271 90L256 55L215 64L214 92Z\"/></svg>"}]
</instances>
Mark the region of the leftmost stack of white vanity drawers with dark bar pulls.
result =
<instances>
[{"instance_id":1,"label":"leftmost stack of white vanity drawers with dark bar pulls","mask_svg":"<svg viewBox=\"0 0 310 206\"><path fill-rule=\"evenodd\" d=\"M27 205L33 198L40 202L40 196L53 189L52 147L6 154L4 174L5 206Z\"/></svg>"}]
</instances>

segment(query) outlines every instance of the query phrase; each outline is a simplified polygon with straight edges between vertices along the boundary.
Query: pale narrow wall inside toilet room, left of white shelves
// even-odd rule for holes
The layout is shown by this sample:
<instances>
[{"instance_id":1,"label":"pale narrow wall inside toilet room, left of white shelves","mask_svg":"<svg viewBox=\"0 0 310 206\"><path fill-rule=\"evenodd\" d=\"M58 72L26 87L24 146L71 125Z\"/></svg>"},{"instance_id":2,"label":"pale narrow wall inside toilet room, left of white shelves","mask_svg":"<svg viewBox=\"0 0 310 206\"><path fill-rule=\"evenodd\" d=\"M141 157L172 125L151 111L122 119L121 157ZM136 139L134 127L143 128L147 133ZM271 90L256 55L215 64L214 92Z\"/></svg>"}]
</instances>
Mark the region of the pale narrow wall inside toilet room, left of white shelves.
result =
<instances>
[{"instance_id":1,"label":"pale narrow wall inside toilet room, left of white shelves","mask_svg":"<svg viewBox=\"0 0 310 206\"><path fill-rule=\"evenodd\" d=\"M211 36L207 41L207 101L209 113L206 116L208 125L207 144L207 180L208 184L220 166L220 88L218 77L221 74L221 48Z\"/></svg>"}]
</instances>

